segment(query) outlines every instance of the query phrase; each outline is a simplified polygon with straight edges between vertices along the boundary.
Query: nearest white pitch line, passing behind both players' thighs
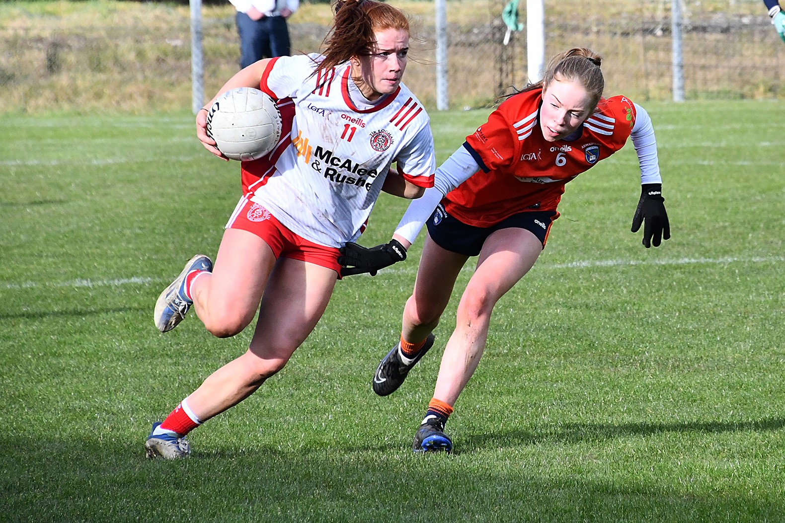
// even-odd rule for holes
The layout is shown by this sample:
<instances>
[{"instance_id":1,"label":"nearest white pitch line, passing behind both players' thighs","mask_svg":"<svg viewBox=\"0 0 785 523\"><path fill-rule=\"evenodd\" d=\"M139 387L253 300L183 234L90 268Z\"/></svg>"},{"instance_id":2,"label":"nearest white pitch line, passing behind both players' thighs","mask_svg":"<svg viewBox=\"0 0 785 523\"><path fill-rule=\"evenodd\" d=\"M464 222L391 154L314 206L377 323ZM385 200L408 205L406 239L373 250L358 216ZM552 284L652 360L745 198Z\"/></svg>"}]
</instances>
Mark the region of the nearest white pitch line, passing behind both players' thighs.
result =
<instances>
[{"instance_id":1,"label":"nearest white pitch line, passing behind both players' thighs","mask_svg":"<svg viewBox=\"0 0 785 523\"><path fill-rule=\"evenodd\" d=\"M590 269L592 267L624 267L631 265L694 265L704 263L707 265L726 265L728 263L774 263L785 262L785 256L754 256L752 258L679 258L677 260L581 260L579 262L553 263L541 262L539 269ZM384 269L385 274L407 274L414 272L414 268L392 268ZM463 271L473 271L474 265L466 265ZM359 276L368 276L362 274ZM370 277L370 276L369 276ZM2 287L6 289L31 289L36 287L119 287L122 285L137 285L158 283L162 278L143 278L134 276L133 278L118 278L115 280L71 280L64 282L36 283L26 281L23 283L5 283Z\"/></svg>"}]
</instances>

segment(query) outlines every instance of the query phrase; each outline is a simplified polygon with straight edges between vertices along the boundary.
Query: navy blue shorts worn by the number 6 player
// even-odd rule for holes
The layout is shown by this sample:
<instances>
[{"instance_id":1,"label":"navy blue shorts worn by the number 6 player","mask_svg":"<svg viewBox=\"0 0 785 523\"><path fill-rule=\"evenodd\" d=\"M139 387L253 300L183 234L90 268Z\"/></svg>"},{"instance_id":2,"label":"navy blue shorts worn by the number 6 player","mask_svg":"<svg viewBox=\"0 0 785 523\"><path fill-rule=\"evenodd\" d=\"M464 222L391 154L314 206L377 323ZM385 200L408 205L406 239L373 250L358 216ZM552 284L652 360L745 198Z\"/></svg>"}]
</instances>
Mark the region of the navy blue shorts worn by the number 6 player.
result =
<instances>
[{"instance_id":1,"label":"navy blue shorts worn by the number 6 player","mask_svg":"<svg viewBox=\"0 0 785 523\"><path fill-rule=\"evenodd\" d=\"M526 229L537 236L542 247L545 247L554 216L554 210L528 210L513 214L490 227L475 227L448 215L440 203L428 218L427 225L431 240L439 247L466 256L477 256L487 237L499 229Z\"/></svg>"}]
</instances>

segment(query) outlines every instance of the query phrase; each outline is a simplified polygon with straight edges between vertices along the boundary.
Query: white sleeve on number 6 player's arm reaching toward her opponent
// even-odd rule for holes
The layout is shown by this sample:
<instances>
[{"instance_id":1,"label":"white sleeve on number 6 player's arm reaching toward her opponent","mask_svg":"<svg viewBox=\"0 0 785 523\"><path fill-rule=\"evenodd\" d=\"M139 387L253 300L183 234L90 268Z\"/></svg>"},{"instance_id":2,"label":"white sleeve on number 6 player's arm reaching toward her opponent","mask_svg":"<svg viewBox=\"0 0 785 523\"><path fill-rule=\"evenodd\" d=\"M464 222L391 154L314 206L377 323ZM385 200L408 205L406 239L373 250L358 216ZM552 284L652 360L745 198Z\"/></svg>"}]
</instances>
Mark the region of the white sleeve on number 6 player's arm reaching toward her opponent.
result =
<instances>
[{"instance_id":1,"label":"white sleeve on number 6 player's arm reaching toward her opponent","mask_svg":"<svg viewBox=\"0 0 785 523\"><path fill-rule=\"evenodd\" d=\"M409 243L414 243L425 221L447 192L461 185L469 177L480 170L476 160L464 147L459 147L450 158L436 169L433 187L425 189L425 194L413 200L403 218L396 227L395 233L403 236Z\"/></svg>"}]
</instances>

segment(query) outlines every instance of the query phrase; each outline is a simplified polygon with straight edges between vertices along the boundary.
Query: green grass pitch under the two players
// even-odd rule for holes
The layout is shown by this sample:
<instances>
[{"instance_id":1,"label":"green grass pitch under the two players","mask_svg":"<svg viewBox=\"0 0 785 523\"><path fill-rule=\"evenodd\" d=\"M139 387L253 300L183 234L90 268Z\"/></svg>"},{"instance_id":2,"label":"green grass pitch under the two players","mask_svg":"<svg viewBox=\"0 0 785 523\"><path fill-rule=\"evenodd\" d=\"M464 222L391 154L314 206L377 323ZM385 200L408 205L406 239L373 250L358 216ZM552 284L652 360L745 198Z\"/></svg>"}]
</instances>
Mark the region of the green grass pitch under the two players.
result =
<instances>
[{"instance_id":1,"label":"green grass pitch under the two players","mask_svg":"<svg viewBox=\"0 0 785 523\"><path fill-rule=\"evenodd\" d=\"M391 397L409 259L338 284L290 364L144 459L151 422L246 348L155 298L214 255L239 164L193 117L4 115L0 126L0 520L785 520L785 123L777 102L648 104L671 240L630 232L632 144L568 185L548 247L498 303L447 430L413 455L454 324ZM432 112L439 161L487 112ZM406 203L383 197L361 242ZM458 281L466 284L467 267Z\"/></svg>"}]
</instances>

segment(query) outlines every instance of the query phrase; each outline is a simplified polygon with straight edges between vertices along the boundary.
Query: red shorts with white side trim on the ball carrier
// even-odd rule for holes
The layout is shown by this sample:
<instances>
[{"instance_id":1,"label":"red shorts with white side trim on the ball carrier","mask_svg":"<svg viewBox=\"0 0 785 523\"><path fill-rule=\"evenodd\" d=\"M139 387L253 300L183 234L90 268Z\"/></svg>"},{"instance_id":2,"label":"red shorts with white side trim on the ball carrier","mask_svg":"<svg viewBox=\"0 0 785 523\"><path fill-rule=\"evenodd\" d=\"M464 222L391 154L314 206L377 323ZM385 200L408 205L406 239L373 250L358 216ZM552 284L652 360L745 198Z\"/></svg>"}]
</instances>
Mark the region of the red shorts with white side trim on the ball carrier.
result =
<instances>
[{"instance_id":1,"label":"red shorts with white side trim on the ball carrier","mask_svg":"<svg viewBox=\"0 0 785 523\"><path fill-rule=\"evenodd\" d=\"M276 219L275 216L270 214L270 211L261 207L256 202L250 201L245 196L240 199L226 224L226 229L241 229L243 231L253 232L262 240L265 240L270 248L272 254L276 258L292 258L293 260L301 260L302 262L314 263L333 269L338 274L341 274L341 265L338 263L338 248L327 247L313 243L312 241L305 240L302 236L298 236L291 232L286 225L283 225Z\"/></svg>"}]
</instances>

